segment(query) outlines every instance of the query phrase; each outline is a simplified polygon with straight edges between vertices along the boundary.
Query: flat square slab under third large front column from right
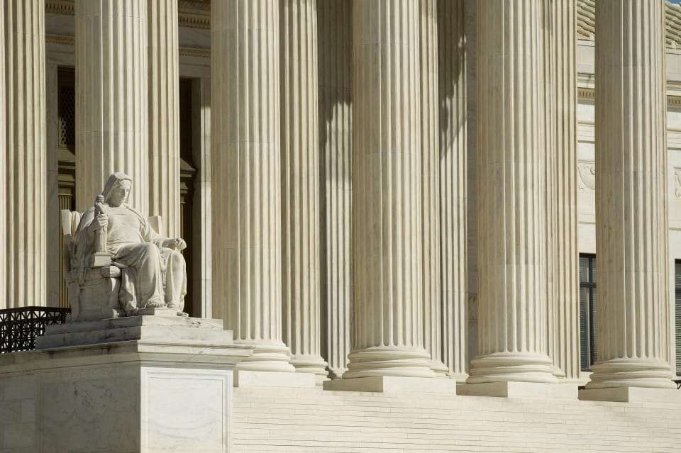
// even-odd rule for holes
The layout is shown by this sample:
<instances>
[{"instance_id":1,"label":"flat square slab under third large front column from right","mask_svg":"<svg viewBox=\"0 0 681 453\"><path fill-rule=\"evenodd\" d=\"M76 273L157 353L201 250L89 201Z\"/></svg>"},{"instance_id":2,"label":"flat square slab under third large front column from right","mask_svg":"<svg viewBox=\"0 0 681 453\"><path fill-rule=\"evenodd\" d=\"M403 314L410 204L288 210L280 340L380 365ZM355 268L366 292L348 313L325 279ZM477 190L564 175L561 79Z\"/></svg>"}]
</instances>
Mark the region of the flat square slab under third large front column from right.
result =
<instances>
[{"instance_id":1,"label":"flat square slab under third large front column from right","mask_svg":"<svg viewBox=\"0 0 681 453\"><path fill-rule=\"evenodd\" d=\"M452 379L414 378L401 376L370 376L325 381L324 390L445 393L456 395L456 381Z\"/></svg>"}]
</instances>

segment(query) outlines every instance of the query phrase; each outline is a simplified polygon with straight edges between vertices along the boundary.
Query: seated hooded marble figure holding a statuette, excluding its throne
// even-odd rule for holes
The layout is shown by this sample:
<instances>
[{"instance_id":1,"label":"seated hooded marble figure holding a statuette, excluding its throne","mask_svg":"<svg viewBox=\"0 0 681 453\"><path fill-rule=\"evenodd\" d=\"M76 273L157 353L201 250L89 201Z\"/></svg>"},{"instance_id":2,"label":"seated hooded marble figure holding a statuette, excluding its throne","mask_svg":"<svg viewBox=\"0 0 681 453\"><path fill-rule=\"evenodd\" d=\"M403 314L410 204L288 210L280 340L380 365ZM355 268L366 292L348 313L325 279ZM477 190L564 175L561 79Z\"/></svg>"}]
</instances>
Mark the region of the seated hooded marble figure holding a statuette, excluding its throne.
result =
<instances>
[{"instance_id":1,"label":"seated hooded marble figure holding a statuette, excluding its throne","mask_svg":"<svg viewBox=\"0 0 681 453\"><path fill-rule=\"evenodd\" d=\"M125 315L148 308L182 314L187 272L179 238L161 237L149 220L128 204L132 179L111 174L94 206L85 211L72 238L71 269L120 269L118 303Z\"/></svg>"}]
</instances>

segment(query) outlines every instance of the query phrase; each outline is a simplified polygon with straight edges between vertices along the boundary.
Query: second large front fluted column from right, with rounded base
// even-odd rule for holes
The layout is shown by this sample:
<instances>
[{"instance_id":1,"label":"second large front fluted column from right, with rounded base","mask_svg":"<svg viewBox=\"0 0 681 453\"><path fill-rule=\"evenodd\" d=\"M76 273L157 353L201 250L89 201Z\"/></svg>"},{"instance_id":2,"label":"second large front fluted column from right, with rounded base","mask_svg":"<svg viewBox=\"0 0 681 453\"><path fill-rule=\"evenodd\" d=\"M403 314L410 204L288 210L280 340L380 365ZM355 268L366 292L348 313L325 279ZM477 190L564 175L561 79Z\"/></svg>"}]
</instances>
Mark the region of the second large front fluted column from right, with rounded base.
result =
<instances>
[{"instance_id":1,"label":"second large front fluted column from right, with rounded base","mask_svg":"<svg viewBox=\"0 0 681 453\"><path fill-rule=\"evenodd\" d=\"M478 357L472 384L554 383L546 354L541 0L477 2Z\"/></svg>"}]
</instances>

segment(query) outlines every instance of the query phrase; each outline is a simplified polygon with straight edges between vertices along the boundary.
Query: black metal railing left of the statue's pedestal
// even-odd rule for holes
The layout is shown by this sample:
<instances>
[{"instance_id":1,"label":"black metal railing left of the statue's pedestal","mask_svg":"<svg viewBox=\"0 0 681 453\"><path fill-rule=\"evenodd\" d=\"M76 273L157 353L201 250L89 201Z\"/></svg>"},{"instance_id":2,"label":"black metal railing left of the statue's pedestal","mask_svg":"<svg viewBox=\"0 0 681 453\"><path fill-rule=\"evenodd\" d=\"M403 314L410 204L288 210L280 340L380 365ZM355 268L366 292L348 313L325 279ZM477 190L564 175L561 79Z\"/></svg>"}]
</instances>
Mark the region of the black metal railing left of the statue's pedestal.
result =
<instances>
[{"instance_id":1,"label":"black metal railing left of the statue's pedestal","mask_svg":"<svg viewBox=\"0 0 681 453\"><path fill-rule=\"evenodd\" d=\"M70 308L21 307L0 310L0 354L35 349L45 326L66 322Z\"/></svg>"}]
</instances>

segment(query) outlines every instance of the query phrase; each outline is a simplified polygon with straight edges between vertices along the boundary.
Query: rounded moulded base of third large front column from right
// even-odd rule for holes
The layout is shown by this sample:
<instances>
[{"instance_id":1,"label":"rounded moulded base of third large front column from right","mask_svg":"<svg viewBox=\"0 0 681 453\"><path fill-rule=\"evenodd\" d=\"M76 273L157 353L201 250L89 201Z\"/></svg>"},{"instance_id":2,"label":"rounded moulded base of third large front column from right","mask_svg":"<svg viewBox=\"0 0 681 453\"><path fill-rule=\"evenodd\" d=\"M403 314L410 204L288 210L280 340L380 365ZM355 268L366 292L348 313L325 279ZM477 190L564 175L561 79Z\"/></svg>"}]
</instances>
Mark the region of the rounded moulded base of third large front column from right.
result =
<instances>
[{"instance_id":1,"label":"rounded moulded base of third large front column from right","mask_svg":"<svg viewBox=\"0 0 681 453\"><path fill-rule=\"evenodd\" d=\"M375 346L348 354L343 379L375 376L434 378L430 356L423 348Z\"/></svg>"}]
</instances>

